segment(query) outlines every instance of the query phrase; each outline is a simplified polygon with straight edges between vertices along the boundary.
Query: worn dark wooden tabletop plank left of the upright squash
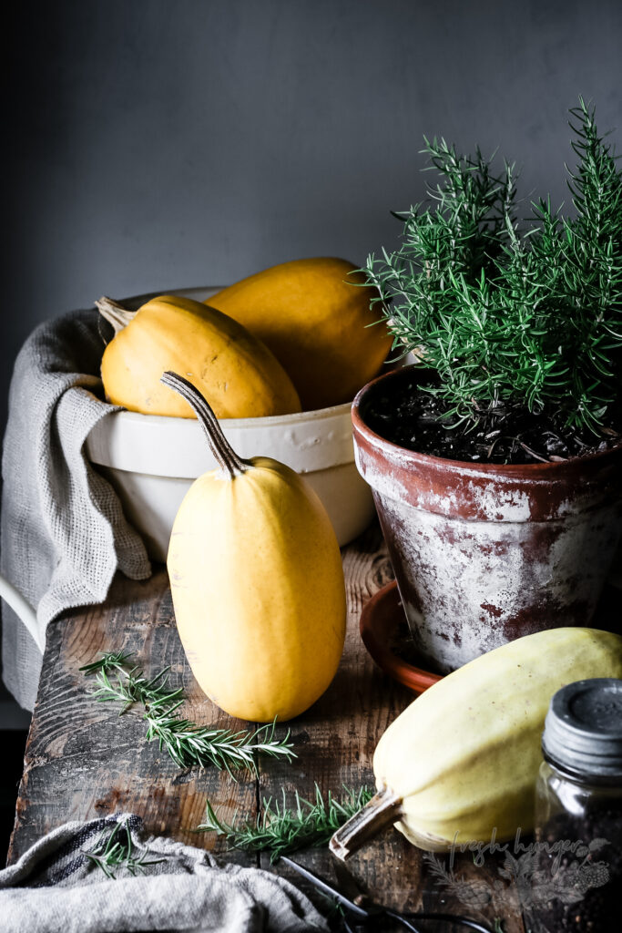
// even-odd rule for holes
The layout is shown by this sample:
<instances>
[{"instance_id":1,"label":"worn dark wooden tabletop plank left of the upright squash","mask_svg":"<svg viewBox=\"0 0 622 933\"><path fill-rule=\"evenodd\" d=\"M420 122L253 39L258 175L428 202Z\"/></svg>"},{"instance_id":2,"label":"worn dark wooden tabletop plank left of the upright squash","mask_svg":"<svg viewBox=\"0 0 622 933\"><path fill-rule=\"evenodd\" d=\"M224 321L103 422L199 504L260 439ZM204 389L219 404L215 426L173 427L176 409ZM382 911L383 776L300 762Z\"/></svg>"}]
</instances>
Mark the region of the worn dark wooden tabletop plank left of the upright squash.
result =
<instances>
[{"instance_id":1,"label":"worn dark wooden tabletop plank left of the upright squash","mask_svg":"<svg viewBox=\"0 0 622 933\"><path fill-rule=\"evenodd\" d=\"M70 819L120 811L141 815L147 830L205 847L218 842L193 830L205 799L218 796L232 818L256 814L256 782L237 784L215 769L180 772L145 742L137 713L117 716L114 703L97 703L79 667L103 650L134 651L146 672L171 665L171 683L187 691L187 716L200 723L242 728L205 698L192 677L174 623L165 571L144 583L117 579L111 599L50 627L33 724L26 747L15 828L8 860ZM246 856L238 860L248 861ZM251 860L254 861L254 860Z\"/></svg>"}]
</instances>

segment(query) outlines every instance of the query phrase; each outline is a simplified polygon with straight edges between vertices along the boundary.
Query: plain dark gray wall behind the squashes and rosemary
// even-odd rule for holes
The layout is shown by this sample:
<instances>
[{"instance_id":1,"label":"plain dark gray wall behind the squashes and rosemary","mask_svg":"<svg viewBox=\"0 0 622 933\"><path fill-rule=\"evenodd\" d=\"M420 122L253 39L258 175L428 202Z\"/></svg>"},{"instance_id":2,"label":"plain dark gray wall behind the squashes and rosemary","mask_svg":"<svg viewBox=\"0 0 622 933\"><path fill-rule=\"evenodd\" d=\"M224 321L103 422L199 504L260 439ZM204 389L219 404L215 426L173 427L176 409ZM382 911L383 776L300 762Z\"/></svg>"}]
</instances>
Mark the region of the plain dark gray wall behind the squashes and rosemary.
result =
<instances>
[{"instance_id":1,"label":"plain dark gray wall behind the squashes and rosemary","mask_svg":"<svg viewBox=\"0 0 622 933\"><path fill-rule=\"evenodd\" d=\"M16 15L3 416L28 332L102 293L393 243L389 210L422 197L423 133L500 146L523 193L557 202L577 95L603 129L622 123L619 0L55 0Z\"/></svg>"}]
</instances>

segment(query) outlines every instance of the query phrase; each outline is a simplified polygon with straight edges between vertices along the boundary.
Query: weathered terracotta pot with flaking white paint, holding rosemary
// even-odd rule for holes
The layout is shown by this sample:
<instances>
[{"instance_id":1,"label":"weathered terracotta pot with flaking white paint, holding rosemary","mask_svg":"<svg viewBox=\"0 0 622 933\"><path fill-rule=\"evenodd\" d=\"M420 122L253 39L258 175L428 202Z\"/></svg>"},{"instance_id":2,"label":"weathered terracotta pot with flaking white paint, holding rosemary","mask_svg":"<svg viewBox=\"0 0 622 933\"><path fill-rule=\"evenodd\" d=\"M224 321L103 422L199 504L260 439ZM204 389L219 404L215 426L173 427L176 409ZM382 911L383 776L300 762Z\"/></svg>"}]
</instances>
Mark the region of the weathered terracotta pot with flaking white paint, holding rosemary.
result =
<instances>
[{"instance_id":1,"label":"weathered terracotta pot with flaking white paint, holding rosemary","mask_svg":"<svg viewBox=\"0 0 622 933\"><path fill-rule=\"evenodd\" d=\"M448 673L521 635L588 625L622 533L622 447L528 466L412 453L366 425L403 373L368 383L352 423L422 660Z\"/></svg>"}]
</instances>

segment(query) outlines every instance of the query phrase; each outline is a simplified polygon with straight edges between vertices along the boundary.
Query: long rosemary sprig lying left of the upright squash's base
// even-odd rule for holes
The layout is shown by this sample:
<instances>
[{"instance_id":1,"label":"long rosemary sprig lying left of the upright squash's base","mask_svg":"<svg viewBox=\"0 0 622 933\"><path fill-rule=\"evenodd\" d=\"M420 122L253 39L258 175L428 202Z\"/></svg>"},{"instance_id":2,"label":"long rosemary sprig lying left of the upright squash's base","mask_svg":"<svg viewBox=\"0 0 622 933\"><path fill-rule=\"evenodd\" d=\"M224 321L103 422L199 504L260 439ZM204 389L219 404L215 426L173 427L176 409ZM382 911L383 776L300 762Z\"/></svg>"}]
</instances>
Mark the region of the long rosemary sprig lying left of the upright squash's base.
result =
<instances>
[{"instance_id":1,"label":"long rosemary sprig lying left of the upright squash's base","mask_svg":"<svg viewBox=\"0 0 622 933\"><path fill-rule=\"evenodd\" d=\"M255 731L232 731L199 726L177 713L184 703L183 689L170 689L166 667L148 678L137 666L130 666L130 652L106 652L98 661L80 670L94 674L97 689L93 695L102 703L123 703L122 716L134 703L145 709L146 739L157 739L180 768L214 765L233 777L234 771L246 769L257 773L256 756L291 761L296 758L290 733L283 739L275 735L276 720Z\"/></svg>"}]
</instances>

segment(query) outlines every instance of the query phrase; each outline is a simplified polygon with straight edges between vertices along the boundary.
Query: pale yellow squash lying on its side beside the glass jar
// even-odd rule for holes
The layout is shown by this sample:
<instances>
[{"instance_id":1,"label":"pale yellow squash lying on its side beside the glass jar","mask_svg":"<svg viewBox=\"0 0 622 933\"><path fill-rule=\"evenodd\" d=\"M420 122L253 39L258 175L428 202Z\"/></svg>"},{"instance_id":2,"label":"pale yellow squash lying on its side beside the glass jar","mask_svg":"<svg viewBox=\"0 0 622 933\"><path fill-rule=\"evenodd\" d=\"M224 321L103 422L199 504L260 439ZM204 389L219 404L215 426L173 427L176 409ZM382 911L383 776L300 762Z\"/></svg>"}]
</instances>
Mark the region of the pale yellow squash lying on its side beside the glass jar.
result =
<instances>
[{"instance_id":1,"label":"pale yellow squash lying on its side beside the glass jar","mask_svg":"<svg viewBox=\"0 0 622 933\"><path fill-rule=\"evenodd\" d=\"M585 628L525 635L427 689L384 732L374 755L379 793L333 836L345 858L394 823L408 842L528 834L540 742L554 693L575 680L622 677L622 637Z\"/></svg>"}]
</instances>

